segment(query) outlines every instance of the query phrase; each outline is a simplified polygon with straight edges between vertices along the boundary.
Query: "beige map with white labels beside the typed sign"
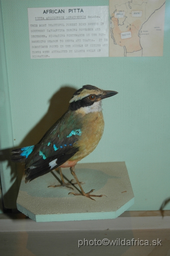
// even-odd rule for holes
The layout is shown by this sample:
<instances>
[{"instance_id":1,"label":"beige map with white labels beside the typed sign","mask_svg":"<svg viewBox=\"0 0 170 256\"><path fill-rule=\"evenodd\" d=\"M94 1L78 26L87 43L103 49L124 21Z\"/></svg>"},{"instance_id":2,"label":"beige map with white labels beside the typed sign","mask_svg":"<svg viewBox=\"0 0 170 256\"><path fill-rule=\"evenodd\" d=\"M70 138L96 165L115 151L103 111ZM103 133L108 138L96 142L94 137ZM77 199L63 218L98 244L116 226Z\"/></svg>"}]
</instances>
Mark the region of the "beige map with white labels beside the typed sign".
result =
<instances>
[{"instance_id":1,"label":"beige map with white labels beside the typed sign","mask_svg":"<svg viewBox=\"0 0 170 256\"><path fill-rule=\"evenodd\" d=\"M162 56L165 0L110 0L109 56Z\"/></svg>"}]
</instances>

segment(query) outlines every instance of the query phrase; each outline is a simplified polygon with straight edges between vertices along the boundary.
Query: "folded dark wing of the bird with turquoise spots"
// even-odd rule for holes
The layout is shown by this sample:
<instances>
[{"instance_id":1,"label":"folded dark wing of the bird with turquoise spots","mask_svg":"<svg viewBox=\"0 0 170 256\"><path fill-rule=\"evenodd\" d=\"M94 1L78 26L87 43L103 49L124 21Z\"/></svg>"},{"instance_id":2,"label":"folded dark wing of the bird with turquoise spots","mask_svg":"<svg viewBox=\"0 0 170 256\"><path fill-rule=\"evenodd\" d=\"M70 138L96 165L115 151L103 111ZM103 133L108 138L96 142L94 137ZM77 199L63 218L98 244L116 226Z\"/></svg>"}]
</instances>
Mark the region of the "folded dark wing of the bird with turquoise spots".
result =
<instances>
[{"instance_id":1,"label":"folded dark wing of the bird with turquoise spots","mask_svg":"<svg viewBox=\"0 0 170 256\"><path fill-rule=\"evenodd\" d=\"M13 152L15 159L25 162L26 182L42 176L64 164L78 151L75 142L81 136L82 116L68 110L43 136L38 144L26 147L24 158ZM22 150L22 149L20 149ZM19 156L18 156L19 155ZM56 161L54 161L56 160Z\"/></svg>"}]
</instances>

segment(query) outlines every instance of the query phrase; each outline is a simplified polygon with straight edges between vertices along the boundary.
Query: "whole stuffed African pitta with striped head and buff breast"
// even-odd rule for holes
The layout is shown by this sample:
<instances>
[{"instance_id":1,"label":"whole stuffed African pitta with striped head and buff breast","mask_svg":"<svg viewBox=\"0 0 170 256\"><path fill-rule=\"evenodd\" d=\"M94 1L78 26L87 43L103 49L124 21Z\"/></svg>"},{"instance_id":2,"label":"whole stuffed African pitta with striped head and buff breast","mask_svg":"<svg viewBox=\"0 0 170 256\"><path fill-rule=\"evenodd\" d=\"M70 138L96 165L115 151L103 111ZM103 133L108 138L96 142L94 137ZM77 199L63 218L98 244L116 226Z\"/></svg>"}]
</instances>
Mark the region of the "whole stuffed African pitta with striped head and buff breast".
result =
<instances>
[{"instance_id":1,"label":"whole stuffed African pitta with striped head and buff breast","mask_svg":"<svg viewBox=\"0 0 170 256\"><path fill-rule=\"evenodd\" d=\"M103 195L85 193L75 174L75 165L90 154L99 143L103 130L102 100L114 96L118 92L106 91L92 85L84 85L77 90L71 100L67 112L46 132L38 144L12 151L13 162L25 162L25 182L34 180L56 168L59 169L62 185L64 182L61 168L70 167L80 194L92 200L92 197ZM53 186L57 187L57 186Z\"/></svg>"}]
</instances>

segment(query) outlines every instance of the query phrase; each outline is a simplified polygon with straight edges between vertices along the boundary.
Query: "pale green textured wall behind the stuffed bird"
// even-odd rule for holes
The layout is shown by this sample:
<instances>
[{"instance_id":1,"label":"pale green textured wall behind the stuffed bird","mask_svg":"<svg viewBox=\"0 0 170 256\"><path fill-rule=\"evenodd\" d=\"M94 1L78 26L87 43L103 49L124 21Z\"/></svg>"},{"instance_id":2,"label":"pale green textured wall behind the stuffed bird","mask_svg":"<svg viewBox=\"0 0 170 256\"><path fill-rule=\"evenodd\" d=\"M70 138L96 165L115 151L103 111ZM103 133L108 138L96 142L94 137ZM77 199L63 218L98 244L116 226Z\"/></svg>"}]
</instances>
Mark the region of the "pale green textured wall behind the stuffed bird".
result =
<instances>
[{"instance_id":1,"label":"pale green textured wall behind the stuffed bird","mask_svg":"<svg viewBox=\"0 0 170 256\"><path fill-rule=\"evenodd\" d=\"M170 0L166 1L163 57L49 60L30 59L27 8L108 5L108 1L1 2L15 139L8 147L38 142L55 121L55 113L58 118L64 111L63 102L55 100L60 88L92 84L116 90L118 95L103 101L103 137L81 162L125 161L135 195L130 209L158 210L170 197ZM66 96L64 104L68 100ZM49 118L44 116L47 112Z\"/></svg>"}]
</instances>

